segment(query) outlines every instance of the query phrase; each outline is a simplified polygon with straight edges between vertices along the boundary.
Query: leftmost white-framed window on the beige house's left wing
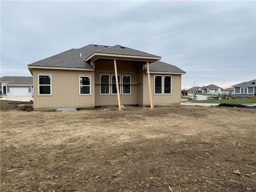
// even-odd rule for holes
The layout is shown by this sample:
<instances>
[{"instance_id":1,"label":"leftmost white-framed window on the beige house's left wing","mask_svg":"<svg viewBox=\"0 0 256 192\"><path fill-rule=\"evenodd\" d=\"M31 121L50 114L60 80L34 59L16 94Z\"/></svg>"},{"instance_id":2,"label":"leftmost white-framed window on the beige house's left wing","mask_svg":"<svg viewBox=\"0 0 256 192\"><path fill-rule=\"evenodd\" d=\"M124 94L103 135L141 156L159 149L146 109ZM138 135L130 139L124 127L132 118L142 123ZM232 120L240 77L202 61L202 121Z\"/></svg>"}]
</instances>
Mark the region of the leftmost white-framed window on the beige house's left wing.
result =
<instances>
[{"instance_id":1,"label":"leftmost white-framed window on the beige house's left wing","mask_svg":"<svg viewBox=\"0 0 256 192\"><path fill-rule=\"evenodd\" d=\"M38 75L38 94L51 95L52 94L52 76Z\"/></svg>"}]
</instances>

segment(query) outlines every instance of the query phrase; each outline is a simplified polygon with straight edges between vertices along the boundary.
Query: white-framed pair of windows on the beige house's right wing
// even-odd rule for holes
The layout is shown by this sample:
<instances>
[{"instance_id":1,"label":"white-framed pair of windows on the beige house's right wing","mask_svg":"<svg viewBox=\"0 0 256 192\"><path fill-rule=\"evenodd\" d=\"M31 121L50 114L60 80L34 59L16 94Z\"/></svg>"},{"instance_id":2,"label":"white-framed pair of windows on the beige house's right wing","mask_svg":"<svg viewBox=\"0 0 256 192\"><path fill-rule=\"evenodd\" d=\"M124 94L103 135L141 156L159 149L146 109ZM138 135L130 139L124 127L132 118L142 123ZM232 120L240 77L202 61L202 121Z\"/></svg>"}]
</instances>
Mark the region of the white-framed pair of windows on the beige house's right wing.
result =
<instances>
[{"instance_id":1,"label":"white-framed pair of windows on the beige house's right wing","mask_svg":"<svg viewBox=\"0 0 256 192\"><path fill-rule=\"evenodd\" d=\"M171 94L172 93L172 76L154 76L154 94Z\"/></svg>"}]
</instances>

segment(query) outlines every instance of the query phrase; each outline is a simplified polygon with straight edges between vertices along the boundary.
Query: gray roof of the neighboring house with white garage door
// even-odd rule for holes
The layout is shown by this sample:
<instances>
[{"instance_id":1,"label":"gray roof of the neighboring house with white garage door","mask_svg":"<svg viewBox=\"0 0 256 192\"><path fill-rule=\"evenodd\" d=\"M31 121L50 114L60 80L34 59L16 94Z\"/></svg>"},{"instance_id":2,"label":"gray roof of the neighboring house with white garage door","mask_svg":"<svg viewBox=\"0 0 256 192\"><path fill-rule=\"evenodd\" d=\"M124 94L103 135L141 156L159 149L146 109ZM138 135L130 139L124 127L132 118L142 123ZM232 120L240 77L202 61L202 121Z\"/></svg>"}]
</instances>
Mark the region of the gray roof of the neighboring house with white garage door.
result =
<instances>
[{"instance_id":1,"label":"gray roof of the neighboring house with white garage door","mask_svg":"<svg viewBox=\"0 0 256 192\"><path fill-rule=\"evenodd\" d=\"M33 85L33 77L24 76L4 76L0 82L9 82L6 85Z\"/></svg>"}]
</instances>

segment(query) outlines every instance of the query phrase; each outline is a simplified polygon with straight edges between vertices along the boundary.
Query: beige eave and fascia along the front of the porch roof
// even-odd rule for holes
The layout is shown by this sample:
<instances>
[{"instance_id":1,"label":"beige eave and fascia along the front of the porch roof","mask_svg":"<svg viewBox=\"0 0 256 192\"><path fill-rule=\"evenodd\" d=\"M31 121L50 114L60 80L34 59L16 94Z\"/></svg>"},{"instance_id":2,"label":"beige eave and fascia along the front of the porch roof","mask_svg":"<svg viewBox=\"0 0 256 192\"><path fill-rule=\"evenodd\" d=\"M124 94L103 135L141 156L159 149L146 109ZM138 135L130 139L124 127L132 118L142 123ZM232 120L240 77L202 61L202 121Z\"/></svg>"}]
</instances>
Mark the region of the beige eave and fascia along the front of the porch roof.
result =
<instances>
[{"instance_id":1,"label":"beige eave and fascia along the front of the porch roof","mask_svg":"<svg viewBox=\"0 0 256 192\"><path fill-rule=\"evenodd\" d=\"M120 55L120 54L109 54L109 53L94 53L90 57L86 58L85 61L95 61L97 59L122 59L122 60L136 60L136 61L149 61L156 62L161 60L161 57L149 57L149 56L134 56L134 55Z\"/></svg>"}]
</instances>

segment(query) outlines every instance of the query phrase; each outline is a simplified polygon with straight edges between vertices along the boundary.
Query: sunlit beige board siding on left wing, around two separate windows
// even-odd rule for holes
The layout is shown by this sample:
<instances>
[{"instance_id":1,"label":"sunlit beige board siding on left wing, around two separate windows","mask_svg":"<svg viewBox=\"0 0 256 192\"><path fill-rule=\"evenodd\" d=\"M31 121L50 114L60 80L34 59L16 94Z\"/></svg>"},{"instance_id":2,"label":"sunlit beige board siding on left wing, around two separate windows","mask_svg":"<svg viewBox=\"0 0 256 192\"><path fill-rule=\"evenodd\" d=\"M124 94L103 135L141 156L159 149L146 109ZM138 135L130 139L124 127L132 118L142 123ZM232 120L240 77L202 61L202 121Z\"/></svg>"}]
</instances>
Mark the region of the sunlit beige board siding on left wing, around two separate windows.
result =
<instances>
[{"instance_id":1,"label":"sunlit beige board siding on left wing, around two separate windows","mask_svg":"<svg viewBox=\"0 0 256 192\"><path fill-rule=\"evenodd\" d=\"M38 75L51 75L52 94L38 95ZM94 107L94 71L33 69L34 109ZM80 95L79 76L91 76L91 94Z\"/></svg>"}]
</instances>

